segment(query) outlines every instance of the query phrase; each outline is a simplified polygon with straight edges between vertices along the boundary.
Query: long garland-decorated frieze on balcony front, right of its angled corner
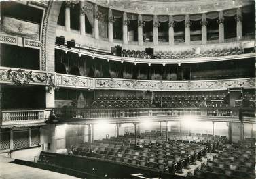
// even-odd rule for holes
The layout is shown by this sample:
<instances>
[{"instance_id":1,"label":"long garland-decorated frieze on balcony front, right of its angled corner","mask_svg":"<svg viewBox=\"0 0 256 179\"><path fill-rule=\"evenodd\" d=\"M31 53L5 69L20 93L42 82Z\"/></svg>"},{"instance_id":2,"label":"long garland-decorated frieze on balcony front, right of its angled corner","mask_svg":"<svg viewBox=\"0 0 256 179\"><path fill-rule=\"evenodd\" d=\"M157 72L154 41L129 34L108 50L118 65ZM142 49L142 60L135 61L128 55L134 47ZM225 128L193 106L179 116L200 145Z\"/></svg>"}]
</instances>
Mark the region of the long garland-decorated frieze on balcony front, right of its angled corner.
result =
<instances>
[{"instance_id":1,"label":"long garland-decorated frieze on balcony front, right of its angled corner","mask_svg":"<svg viewBox=\"0 0 256 179\"><path fill-rule=\"evenodd\" d=\"M126 79L95 79L96 89L136 89L152 91L197 91L223 90L227 88L255 88L255 78L240 78L231 80L203 80L203 81L153 81Z\"/></svg>"}]
</instances>

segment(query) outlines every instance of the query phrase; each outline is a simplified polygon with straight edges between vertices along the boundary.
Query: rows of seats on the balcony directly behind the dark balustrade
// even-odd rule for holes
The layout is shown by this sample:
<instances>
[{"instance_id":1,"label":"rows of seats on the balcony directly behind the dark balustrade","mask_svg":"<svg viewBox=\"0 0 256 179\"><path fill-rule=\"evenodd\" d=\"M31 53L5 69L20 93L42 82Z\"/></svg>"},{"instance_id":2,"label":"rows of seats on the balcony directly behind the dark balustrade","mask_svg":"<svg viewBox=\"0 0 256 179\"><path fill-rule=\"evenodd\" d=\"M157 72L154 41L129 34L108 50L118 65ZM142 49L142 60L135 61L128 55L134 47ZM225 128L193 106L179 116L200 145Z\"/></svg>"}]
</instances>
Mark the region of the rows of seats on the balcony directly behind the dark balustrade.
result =
<instances>
[{"instance_id":1,"label":"rows of seats on the balcony directly behind the dark balustrade","mask_svg":"<svg viewBox=\"0 0 256 179\"><path fill-rule=\"evenodd\" d=\"M127 96L113 97L106 95L92 102L96 108L149 108L149 107L227 107L225 95L175 95L155 96L153 100L143 97Z\"/></svg>"}]
</instances>

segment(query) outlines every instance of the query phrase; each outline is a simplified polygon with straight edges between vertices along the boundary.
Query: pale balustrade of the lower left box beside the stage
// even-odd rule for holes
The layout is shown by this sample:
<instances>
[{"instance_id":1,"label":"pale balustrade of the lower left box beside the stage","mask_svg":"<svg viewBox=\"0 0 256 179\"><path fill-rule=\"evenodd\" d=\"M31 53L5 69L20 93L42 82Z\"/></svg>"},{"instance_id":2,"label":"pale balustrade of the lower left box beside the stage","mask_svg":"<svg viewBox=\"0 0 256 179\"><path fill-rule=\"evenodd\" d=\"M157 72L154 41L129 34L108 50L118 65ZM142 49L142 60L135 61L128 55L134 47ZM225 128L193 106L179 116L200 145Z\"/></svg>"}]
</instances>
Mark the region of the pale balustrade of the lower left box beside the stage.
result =
<instances>
[{"instance_id":1,"label":"pale balustrade of the lower left box beside the stage","mask_svg":"<svg viewBox=\"0 0 256 179\"><path fill-rule=\"evenodd\" d=\"M1 125L41 123L48 120L51 109L3 110Z\"/></svg>"}]
</instances>

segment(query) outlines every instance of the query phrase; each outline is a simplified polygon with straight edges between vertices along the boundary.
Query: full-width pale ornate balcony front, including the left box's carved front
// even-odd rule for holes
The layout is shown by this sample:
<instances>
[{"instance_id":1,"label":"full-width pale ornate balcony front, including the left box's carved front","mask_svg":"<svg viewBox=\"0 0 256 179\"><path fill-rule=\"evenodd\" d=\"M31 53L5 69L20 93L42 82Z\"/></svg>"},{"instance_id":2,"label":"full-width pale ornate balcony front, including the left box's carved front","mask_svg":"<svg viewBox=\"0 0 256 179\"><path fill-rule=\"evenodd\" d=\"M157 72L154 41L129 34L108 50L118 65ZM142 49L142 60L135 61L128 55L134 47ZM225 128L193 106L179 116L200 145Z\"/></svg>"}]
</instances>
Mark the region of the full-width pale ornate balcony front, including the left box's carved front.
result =
<instances>
[{"instance_id":1,"label":"full-width pale ornate balcony front, including the left box's carved front","mask_svg":"<svg viewBox=\"0 0 256 179\"><path fill-rule=\"evenodd\" d=\"M23 70L0 66L0 84L26 84L79 89L112 89L134 91L213 91L227 88L255 89L256 78L223 80L131 80L123 78L90 78L71 74L48 73L39 70Z\"/></svg>"}]
</instances>

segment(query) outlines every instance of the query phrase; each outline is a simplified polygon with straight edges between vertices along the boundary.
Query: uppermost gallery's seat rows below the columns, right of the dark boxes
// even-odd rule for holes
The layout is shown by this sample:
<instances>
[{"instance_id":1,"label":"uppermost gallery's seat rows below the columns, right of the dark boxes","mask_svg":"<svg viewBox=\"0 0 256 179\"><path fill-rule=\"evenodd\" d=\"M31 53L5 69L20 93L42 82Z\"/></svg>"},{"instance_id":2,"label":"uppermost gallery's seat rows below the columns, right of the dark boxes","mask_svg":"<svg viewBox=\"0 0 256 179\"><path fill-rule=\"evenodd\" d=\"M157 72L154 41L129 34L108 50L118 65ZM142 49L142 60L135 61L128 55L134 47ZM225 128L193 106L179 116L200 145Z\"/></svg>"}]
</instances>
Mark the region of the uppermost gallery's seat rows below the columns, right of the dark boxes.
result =
<instances>
[{"instance_id":1,"label":"uppermost gallery's seat rows below the columns, right of the dark boxes","mask_svg":"<svg viewBox=\"0 0 256 179\"><path fill-rule=\"evenodd\" d=\"M155 57L158 59L183 59L183 58L199 58L199 57L219 57L227 55L240 55L243 53L242 48L234 47L228 49L211 49L196 53L194 50L187 51L158 51Z\"/></svg>"}]
</instances>

